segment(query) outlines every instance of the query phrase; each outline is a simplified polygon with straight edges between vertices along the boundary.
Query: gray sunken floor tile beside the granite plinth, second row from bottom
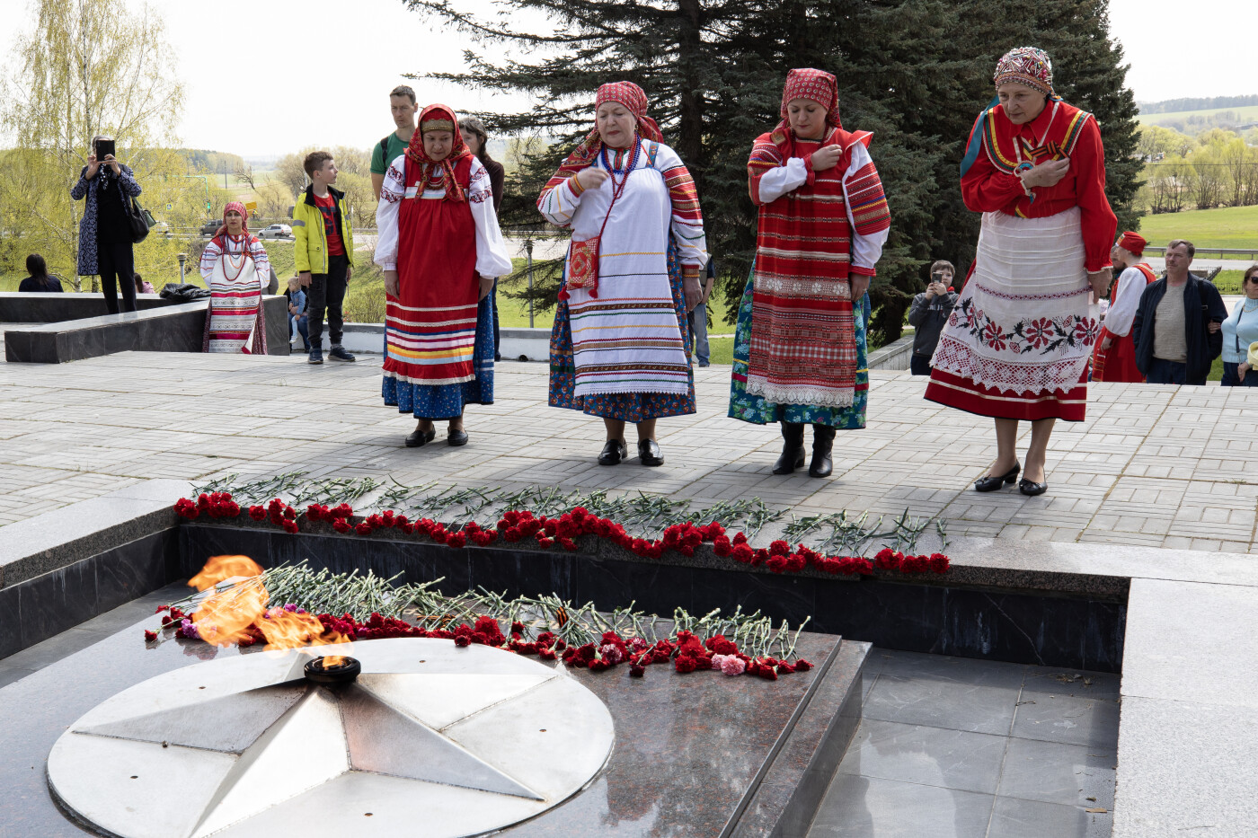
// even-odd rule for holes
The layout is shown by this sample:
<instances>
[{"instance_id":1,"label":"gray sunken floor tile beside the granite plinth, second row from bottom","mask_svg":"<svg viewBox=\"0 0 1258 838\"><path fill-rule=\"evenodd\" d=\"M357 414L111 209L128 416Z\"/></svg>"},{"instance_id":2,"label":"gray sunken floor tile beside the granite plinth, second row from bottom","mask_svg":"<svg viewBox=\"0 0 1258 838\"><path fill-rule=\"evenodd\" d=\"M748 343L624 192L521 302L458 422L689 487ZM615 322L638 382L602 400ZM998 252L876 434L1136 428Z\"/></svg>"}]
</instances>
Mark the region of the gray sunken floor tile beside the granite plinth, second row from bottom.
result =
<instances>
[{"instance_id":1,"label":"gray sunken floor tile beside the granite plinth, second row from bottom","mask_svg":"<svg viewBox=\"0 0 1258 838\"><path fill-rule=\"evenodd\" d=\"M1005 737L864 718L842 774L994 794Z\"/></svg>"}]
</instances>

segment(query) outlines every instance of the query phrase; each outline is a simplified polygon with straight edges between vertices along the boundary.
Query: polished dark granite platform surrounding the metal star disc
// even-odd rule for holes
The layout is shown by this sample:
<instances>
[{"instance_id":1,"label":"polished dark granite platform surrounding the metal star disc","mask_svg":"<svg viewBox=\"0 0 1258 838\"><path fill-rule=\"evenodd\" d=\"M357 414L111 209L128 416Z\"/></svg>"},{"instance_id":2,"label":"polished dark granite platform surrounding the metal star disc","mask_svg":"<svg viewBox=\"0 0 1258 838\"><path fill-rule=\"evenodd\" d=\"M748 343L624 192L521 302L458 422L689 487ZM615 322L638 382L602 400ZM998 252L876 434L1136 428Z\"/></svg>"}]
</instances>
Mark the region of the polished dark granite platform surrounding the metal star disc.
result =
<instances>
[{"instance_id":1,"label":"polished dark granite platform surrounding the metal star disc","mask_svg":"<svg viewBox=\"0 0 1258 838\"><path fill-rule=\"evenodd\" d=\"M148 648L141 629L150 624L156 619L0 688L0 837L82 835L47 789L45 760L57 737L121 690L200 659L242 653L182 640ZM648 668L644 678L630 678L625 667L572 671L611 711L611 759L585 790L503 834L800 834L796 824L808 823L820 800L819 778L833 773L850 741L868 647L803 634L798 648L816 668L776 682L717 672L683 676L664 666ZM801 791L780 794L788 784Z\"/></svg>"}]
</instances>

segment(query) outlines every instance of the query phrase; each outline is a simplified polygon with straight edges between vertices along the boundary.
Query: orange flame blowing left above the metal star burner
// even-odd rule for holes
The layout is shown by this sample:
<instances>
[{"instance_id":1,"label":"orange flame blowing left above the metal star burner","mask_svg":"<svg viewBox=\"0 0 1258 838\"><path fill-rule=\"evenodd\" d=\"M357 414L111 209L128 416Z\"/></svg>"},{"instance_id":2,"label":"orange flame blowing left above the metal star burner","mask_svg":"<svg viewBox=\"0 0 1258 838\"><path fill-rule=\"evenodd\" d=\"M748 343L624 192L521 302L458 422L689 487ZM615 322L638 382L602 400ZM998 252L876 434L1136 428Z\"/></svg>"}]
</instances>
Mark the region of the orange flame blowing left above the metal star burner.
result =
<instances>
[{"instance_id":1,"label":"orange flame blowing left above the metal star burner","mask_svg":"<svg viewBox=\"0 0 1258 838\"><path fill-rule=\"evenodd\" d=\"M327 645L353 639L340 632L326 632L313 614L298 614L283 608L268 610L270 594L262 583L262 567L248 556L214 556L187 584L198 590L209 590L234 576L249 579L206 596L192 614L198 633L206 643L252 643L259 633L267 642L267 649ZM336 666L331 658L325 664Z\"/></svg>"}]
</instances>

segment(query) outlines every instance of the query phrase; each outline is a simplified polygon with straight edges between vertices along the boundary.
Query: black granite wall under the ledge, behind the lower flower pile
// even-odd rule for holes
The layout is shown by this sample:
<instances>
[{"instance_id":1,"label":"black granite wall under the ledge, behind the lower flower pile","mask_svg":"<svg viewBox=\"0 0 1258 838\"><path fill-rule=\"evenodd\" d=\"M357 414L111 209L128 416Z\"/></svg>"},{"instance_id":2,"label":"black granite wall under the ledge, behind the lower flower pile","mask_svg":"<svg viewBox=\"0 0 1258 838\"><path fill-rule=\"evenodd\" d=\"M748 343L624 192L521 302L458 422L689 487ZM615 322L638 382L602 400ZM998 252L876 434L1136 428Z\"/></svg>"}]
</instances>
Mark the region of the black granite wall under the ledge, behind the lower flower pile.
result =
<instances>
[{"instance_id":1,"label":"black granite wall under the ledge, behind the lower flower pile","mask_svg":"<svg viewBox=\"0 0 1258 838\"><path fill-rule=\"evenodd\" d=\"M268 528L184 523L181 574L195 574L214 555L239 554L264 566L308 562L348 573L355 567L405 581L444 576L439 588L459 593L484 586L511 594L554 591L613 609L635 603L650 613L684 608L761 610L810 630L876 645L970 658L1069 666L1117 672L1122 666L1125 601L1043 591L959 588L942 584L793 576L742 566L703 567L642 561L623 550L590 552L464 547L335 535L289 536ZM586 545L582 544L582 547ZM590 546L601 546L599 541ZM593 555L591 555L593 554Z\"/></svg>"}]
</instances>

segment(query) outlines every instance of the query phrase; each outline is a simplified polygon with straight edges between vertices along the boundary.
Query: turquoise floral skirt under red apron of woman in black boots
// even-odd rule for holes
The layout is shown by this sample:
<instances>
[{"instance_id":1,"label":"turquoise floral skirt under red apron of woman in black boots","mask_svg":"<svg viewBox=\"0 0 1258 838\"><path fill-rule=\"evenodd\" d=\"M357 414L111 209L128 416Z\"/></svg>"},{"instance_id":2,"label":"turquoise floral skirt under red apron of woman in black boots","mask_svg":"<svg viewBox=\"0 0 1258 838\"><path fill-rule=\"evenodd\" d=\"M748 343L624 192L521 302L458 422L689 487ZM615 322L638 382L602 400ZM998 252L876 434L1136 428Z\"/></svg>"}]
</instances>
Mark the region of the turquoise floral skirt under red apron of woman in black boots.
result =
<instances>
[{"instance_id":1,"label":"turquoise floral skirt under red apron of woman in black boots","mask_svg":"<svg viewBox=\"0 0 1258 838\"><path fill-rule=\"evenodd\" d=\"M869 361L866 357L866 323L860 311L853 322L857 336L857 386L850 408L827 408L811 404L775 404L747 393L747 360L751 356L751 286L738 303L738 325L733 330L733 370L730 376L730 416L757 425L771 422L794 422L829 425L842 430L864 428L866 405L869 401Z\"/></svg>"}]
</instances>

